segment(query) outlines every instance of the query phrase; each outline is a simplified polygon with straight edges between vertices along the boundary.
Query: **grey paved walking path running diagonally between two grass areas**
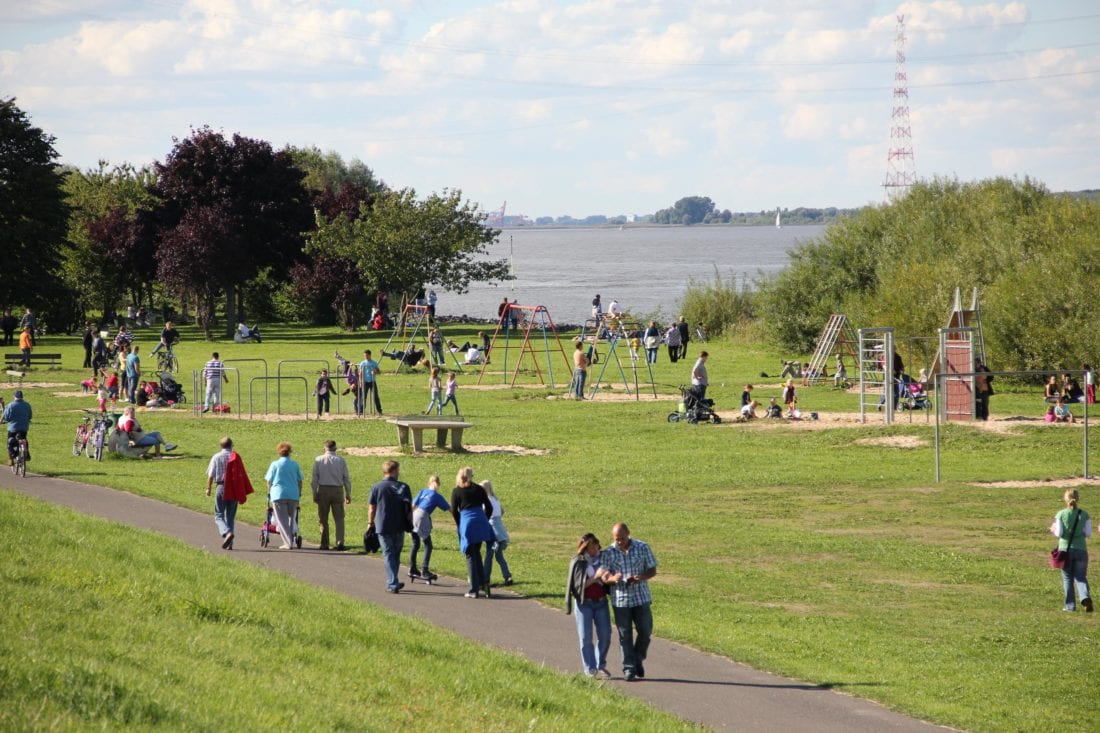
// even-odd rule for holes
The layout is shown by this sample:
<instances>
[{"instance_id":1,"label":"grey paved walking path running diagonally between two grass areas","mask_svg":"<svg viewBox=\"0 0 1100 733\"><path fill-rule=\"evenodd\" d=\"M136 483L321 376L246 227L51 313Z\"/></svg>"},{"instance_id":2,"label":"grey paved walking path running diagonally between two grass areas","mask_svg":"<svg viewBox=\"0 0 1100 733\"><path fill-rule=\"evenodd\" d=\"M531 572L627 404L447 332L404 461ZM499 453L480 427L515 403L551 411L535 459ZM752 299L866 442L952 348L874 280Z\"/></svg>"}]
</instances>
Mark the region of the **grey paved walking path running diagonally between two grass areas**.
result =
<instances>
[{"instance_id":1,"label":"grey paved walking path running diagonally between two grass areas","mask_svg":"<svg viewBox=\"0 0 1100 733\"><path fill-rule=\"evenodd\" d=\"M0 486L94 516L170 535L210 553L226 554L211 514L62 479L0 471ZM580 671L571 616L512 593L492 600L463 598L465 581L440 577L433 586L406 586L386 593L378 556L320 550L260 549L260 529L239 525L238 549L228 555L399 613L419 616L479 643L524 655L566 674ZM248 539L246 539L248 538ZM255 541L252 541L252 540ZM272 546L274 547L274 545ZM660 554L660 548L656 548ZM564 572L563 572L564 575ZM562 591L564 594L564 590ZM657 614L660 626L660 611ZM618 665L617 644L610 664ZM857 733L944 731L893 713L873 702L757 671L724 657L654 638L645 680L609 683L684 720L719 731ZM594 682L595 683L595 682Z\"/></svg>"}]
</instances>

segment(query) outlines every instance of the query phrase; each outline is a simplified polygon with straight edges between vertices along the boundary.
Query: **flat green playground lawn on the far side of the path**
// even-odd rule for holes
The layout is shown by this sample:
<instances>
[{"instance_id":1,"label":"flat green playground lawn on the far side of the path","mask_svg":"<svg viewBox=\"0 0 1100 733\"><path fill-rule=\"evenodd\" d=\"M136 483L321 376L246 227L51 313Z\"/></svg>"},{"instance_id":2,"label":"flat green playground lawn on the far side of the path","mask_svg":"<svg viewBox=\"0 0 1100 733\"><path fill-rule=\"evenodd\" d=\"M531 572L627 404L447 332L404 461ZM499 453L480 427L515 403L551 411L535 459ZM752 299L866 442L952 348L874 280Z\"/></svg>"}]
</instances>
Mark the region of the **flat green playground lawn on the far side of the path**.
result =
<instances>
[{"instance_id":1,"label":"flat green playground lawn on the far side of the path","mask_svg":"<svg viewBox=\"0 0 1100 733\"><path fill-rule=\"evenodd\" d=\"M475 332L451 328L447 335L461 342ZM78 347L44 341L42 348L79 363ZM260 346L218 348L223 358L262 354L274 373L278 359L328 358L337 348L358 357L364 346L377 352L384 342L283 327ZM692 344L693 355L697 348ZM194 341L178 349L185 368L198 366L210 350ZM710 396L719 409L736 407L746 382L778 382L759 376L778 372L780 354L766 348L736 341L710 343L707 350ZM301 374L316 368L285 369ZM391 369L382 378L386 412L422 411L426 376L392 375ZM690 362L668 363L662 352L656 381L672 393L690 369ZM79 378L76 371L38 370L34 379L54 375L74 385ZM506 508L509 564L521 592L557 604L575 538L587 530L606 538L623 519L660 561L653 592L661 636L969 730L1046 731L1100 715L1096 696L1077 689L1080 680L1100 679L1100 619L1060 612L1059 576L1044 561L1046 526L1060 507L1062 490L976 483L1079 474L1079 427L1021 422L1004 434L945 426L945 481L936 484L933 428L923 416L911 424L902 414L889 428L869 423L815 431L670 425L669 402L575 403L549 398L563 385L477 391L470 387L475 381L460 378L463 415L476 426L465 442L550 453L430 453L403 459L402 477L418 488L440 473L449 486L469 463L475 479L492 478ZM184 383L189 387L189 379ZM1042 414L1037 389L998 387L994 416ZM94 464L67 455L73 411L91 401L52 392L29 392L37 415L32 470L202 511L209 510L204 471L223 433L233 436L256 481L279 440L294 442L305 464L329 437L344 447L396 442L395 429L382 420L264 423L151 413L143 422L179 442L184 458ZM765 402L772 394L776 387L755 392ZM856 396L828 387L801 389L800 405L806 412L858 411ZM923 446L860 442L884 436L911 436ZM1093 449L1093 466L1097 458ZM354 533L365 526L363 500L382 460L349 458ZM1086 508L1097 506L1096 495L1094 489L1082 490ZM261 496L241 516L256 523L262 513ZM316 540L308 519L304 527L307 539ZM455 544L451 533L438 533L438 571L463 572ZM1070 638L1072 674L1066 675ZM1075 705L1050 704L1069 697Z\"/></svg>"}]
</instances>

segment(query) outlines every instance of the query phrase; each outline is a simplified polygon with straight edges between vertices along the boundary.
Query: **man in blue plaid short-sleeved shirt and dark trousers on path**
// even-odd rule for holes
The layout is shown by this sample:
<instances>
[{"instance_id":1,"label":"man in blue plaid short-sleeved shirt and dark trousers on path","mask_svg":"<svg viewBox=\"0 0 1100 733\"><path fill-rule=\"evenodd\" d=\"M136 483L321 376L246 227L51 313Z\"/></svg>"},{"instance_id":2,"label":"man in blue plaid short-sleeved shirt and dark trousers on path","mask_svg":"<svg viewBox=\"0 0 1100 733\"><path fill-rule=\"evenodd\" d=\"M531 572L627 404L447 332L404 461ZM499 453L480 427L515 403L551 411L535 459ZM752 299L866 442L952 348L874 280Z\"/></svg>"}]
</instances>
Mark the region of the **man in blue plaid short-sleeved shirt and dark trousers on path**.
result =
<instances>
[{"instance_id":1,"label":"man in blue plaid short-sleeved shirt and dark trousers on path","mask_svg":"<svg viewBox=\"0 0 1100 733\"><path fill-rule=\"evenodd\" d=\"M649 580L657 575L657 558L646 543L631 539L619 522L612 527L615 544L601 554L604 582L610 586L612 611L623 654L623 676L628 682L646 677L646 653L653 635Z\"/></svg>"}]
</instances>

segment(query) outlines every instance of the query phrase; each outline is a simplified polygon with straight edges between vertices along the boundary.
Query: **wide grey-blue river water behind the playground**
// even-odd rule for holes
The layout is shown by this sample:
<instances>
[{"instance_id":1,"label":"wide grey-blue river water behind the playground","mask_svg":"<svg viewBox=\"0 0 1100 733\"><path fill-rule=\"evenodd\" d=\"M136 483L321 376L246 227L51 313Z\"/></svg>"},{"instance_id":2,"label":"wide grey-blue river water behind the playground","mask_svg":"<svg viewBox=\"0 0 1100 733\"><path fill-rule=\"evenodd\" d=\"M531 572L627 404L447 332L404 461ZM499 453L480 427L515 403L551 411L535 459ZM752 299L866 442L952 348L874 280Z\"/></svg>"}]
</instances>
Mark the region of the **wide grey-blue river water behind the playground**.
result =
<instances>
[{"instance_id":1,"label":"wide grey-blue river water behind the playground","mask_svg":"<svg viewBox=\"0 0 1100 733\"><path fill-rule=\"evenodd\" d=\"M594 229L506 229L490 247L491 259L512 259L516 280L497 286L476 283L469 293L437 291L446 316L496 318L505 296L520 305L543 305L554 322L581 324L600 293L604 308L617 299L636 316L660 310L679 316L694 281L717 274L739 284L787 266L788 252L815 239L824 227L626 227Z\"/></svg>"}]
</instances>

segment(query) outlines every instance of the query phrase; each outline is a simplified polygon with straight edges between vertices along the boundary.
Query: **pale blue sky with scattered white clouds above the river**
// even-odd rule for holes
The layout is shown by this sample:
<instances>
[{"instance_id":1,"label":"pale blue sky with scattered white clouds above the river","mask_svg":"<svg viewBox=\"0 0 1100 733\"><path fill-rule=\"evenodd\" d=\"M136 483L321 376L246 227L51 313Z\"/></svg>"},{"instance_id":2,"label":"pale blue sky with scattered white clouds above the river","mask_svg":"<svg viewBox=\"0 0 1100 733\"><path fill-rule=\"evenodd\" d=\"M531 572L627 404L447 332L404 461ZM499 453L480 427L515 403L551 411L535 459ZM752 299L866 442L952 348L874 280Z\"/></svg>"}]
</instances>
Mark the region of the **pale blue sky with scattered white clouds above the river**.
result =
<instances>
[{"instance_id":1,"label":"pale blue sky with scattered white clouds above the river","mask_svg":"<svg viewBox=\"0 0 1100 733\"><path fill-rule=\"evenodd\" d=\"M209 125L531 218L880 203L904 142L1100 188L1094 0L0 0L0 96L80 168Z\"/></svg>"}]
</instances>

